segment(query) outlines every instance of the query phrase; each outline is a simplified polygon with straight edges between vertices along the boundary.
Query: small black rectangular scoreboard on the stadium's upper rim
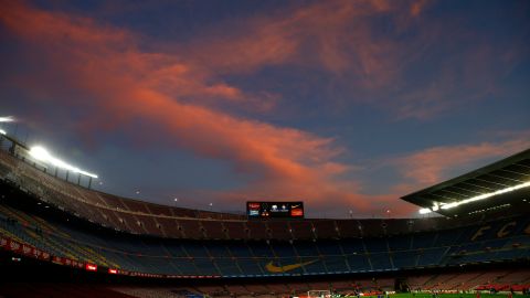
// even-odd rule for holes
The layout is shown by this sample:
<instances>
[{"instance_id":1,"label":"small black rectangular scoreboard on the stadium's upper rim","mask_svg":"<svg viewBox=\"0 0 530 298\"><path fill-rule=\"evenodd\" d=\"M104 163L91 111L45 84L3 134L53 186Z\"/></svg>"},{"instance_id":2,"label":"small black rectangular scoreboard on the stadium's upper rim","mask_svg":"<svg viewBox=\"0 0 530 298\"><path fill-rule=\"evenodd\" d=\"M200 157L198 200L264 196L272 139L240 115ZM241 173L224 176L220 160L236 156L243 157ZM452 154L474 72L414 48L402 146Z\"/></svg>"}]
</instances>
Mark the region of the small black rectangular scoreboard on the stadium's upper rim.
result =
<instances>
[{"instance_id":1,"label":"small black rectangular scoreboard on the stadium's upper rim","mask_svg":"<svg viewBox=\"0 0 530 298\"><path fill-rule=\"evenodd\" d=\"M304 219L303 202L246 202L248 219Z\"/></svg>"}]
</instances>

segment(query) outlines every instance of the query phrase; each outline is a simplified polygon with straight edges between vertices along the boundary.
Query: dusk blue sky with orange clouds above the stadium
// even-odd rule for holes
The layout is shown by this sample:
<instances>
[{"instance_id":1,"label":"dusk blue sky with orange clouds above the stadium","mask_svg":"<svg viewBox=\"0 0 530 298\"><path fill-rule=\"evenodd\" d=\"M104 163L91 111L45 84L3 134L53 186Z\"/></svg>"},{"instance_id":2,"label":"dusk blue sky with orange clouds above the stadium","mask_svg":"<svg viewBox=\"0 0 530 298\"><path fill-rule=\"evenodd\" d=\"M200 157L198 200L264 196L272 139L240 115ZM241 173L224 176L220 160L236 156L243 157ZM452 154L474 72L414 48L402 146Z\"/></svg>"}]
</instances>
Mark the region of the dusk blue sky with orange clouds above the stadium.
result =
<instances>
[{"instance_id":1,"label":"dusk blue sky with orange clouds above the stadium","mask_svg":"<svg viewBox=\"0 0 530 298\"><path fill-rule=\"evenodd\" d=\"M0 0L0 65L2 129L161 204L416 216L530 148L523 0Z\"/></svg>"}]
</instances>

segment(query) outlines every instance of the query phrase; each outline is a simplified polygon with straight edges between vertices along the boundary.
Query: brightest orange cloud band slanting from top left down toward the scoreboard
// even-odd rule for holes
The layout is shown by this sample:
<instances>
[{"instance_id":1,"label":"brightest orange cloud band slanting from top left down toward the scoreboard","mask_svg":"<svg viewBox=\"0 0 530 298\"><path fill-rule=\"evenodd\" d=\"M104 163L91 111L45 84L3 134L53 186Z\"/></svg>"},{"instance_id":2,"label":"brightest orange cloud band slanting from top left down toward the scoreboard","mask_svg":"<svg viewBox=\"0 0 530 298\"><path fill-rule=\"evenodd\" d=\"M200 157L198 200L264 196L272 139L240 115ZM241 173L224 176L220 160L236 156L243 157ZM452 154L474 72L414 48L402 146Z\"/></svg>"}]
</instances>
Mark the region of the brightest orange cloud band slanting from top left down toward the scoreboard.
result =
<instances>
[{"instance_id":1,"label":"brightest orange cloud band slanting from top left down toward the scoreboard","mask_svg":"<svg viewBox=\"0 0 530 298\"><path fill-rule=\"evenodd\" d=\"M333 161L343 149L332 138L237 117L199 99L195 103L195 98L241 102L250 95L213 76L193 58L142 52L140 38L132 32L19 3L2 10L0 20L23 43L39 47L32 54L43 70L19 82L25 83L24 88L52 95L46 104L55 109L45 110L50 118L62 110L60 121L77 123L83 135L159 136L159 141L197 156L229 161L235 171L252 177L246 188L235 192L304 198L315 206L332 200L371 207L370 201L357 194L354 181L339 178L350 166ZM65 94L68 89L81 96L72 99ZM157 134L131 129L137 123L148 124Z\"/></svg>"}]
</instances>

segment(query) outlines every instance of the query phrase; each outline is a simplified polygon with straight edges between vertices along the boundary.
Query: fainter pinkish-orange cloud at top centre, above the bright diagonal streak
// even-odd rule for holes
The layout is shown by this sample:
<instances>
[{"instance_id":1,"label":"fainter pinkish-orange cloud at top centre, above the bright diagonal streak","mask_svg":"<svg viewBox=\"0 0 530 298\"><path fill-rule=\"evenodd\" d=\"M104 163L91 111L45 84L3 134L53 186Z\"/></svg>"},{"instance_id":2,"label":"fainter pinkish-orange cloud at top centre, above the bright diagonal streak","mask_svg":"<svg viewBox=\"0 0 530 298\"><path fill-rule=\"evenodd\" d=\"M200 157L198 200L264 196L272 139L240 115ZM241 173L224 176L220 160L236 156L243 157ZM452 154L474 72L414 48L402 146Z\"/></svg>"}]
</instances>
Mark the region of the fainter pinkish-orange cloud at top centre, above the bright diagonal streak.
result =
<instances>
[{"instance_id":1,"label":"fainter pinkish-orange cloud at top centre, above the bright diagonal streak","mask_svg":"<svg viewBox=\"0 0 530 298\"><path fill-rule=\"evenodd\" d=\"M417 17L426 6L417 2L325 1L244 20L244 29L237 20L192 42L188 56L222 73L246 73L278 64L312 65L337 75L352 72L348 76L356 77L356 85L377 87L398 75L401 61L393 53L400 44L375 34L370 19L394 13L404 22L411 17L409 7ZM229 38L226 31L231 32Z\"/></svg>"}]
</instances>

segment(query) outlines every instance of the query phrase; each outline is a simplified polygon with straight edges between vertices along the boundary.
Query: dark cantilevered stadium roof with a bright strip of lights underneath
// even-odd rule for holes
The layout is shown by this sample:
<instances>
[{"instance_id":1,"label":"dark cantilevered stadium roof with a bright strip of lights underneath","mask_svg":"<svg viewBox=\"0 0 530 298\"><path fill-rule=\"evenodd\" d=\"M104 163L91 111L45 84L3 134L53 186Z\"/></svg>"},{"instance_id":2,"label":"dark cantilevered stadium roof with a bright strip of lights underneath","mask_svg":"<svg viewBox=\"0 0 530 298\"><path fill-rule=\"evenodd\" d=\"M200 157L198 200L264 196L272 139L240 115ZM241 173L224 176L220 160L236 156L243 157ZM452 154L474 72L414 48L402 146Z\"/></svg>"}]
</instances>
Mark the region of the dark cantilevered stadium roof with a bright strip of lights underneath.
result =
<instances>
[{"instance_id":1,"label":"dark cantilevered stadium roof with a bright strip of lights underneath","mask_svg":"<svg viewBox=\"0 0 530 298\"><path fill-rule=\"evenodd\" d=\"M527 212L530 149L401 199L447 216L499 209Z\"/></svg>"}]
</instances>

